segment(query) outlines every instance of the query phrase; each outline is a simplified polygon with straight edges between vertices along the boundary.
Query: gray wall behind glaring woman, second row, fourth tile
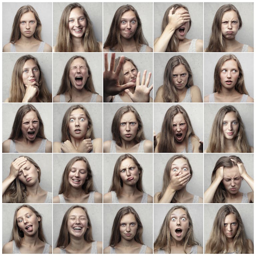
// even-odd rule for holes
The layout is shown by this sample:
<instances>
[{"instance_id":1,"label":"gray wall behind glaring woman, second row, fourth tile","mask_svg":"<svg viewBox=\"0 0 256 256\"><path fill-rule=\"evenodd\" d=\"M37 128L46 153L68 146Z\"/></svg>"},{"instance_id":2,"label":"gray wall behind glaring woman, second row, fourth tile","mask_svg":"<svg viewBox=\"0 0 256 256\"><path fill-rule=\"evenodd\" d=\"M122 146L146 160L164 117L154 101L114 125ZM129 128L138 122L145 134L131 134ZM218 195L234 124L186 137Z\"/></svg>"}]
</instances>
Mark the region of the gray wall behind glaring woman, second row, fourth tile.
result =
<instances>
[{"instance_id":1,"label":"gray wall behind glaring woman, second row, fourth tile","mask_svg":"<svg viewBox=\"0 0 256 256\"><path fill-rule=\"evenodd\" d=\"M154 98L158 88L164 82L164 70L170 58L176 55L183 56L192 71L194 85L200 88L203 94L203 54L202 53L154 53Z\"/></svg>"}]
</instances>

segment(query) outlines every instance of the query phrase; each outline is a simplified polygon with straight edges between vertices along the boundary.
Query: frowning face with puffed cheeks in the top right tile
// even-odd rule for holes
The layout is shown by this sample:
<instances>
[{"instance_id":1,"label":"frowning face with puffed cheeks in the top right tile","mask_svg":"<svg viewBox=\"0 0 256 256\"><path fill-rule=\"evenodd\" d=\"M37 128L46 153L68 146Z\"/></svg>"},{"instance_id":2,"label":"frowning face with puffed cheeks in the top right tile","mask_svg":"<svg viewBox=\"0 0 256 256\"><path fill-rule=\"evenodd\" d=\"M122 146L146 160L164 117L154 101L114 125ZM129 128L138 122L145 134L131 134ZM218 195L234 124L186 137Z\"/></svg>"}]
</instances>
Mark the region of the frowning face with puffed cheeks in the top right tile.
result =
<instances>
[{"instance_id":1,"label":"frowning face with puffed cheeks in the top right tile","mask_svg":"<svg viewBox=\"0 0 256 256\"><path fill-rule=\"evenodd\" d=\"M226 39L235 38L239 29L237 13L233 10L224 12L221 20L222 36Z\"/></svg>"}]
</instances>

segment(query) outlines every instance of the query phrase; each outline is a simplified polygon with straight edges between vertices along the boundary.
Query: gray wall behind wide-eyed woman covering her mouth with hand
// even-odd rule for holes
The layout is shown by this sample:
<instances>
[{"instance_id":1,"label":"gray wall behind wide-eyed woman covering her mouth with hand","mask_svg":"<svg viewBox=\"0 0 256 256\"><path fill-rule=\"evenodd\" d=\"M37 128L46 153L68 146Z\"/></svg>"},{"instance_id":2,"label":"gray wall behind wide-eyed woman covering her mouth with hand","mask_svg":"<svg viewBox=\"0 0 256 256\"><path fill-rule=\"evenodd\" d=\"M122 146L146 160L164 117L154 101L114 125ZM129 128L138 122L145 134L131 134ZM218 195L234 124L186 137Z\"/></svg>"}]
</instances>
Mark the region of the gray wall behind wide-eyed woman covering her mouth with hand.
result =
<instances>
[{"instance_id":1,"label":"gray wall behind wide-eyed woman covering her mouth with hand","mask_svg":"<svg viewBox=\"0 0 256 256\"><path fill-rule=\"evenodd\" d=\"M163 187L163 175L167 161L176 154L154 154L154 194ZM192 167L193 175L186 189L189 193L203 198L203 154L183 154Z\"/></svg>"}]
</instances>

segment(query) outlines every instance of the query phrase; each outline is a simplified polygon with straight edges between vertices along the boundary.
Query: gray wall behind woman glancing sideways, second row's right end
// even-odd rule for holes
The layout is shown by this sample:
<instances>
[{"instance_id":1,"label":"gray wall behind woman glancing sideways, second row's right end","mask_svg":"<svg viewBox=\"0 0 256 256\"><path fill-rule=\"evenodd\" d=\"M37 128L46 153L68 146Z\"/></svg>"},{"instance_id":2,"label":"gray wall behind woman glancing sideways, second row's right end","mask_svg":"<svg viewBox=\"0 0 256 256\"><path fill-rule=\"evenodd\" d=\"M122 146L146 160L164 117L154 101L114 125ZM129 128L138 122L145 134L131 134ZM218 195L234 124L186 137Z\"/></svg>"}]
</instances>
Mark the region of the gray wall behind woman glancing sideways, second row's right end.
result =
<instances>
[{"instance_id":1,"label":"gray wall behind woman glancing sideways, second row's right end","mask_svg":"<svg viewBox=\"0 0 256 256\"><path fill-rule=\"evenodd\" d=\"M218 60L227 53L204 54L204 96L213 93L214 69ZM253 98L253 53L234 53L244 72L245 88Z\"/></svg>"}]
</instances>

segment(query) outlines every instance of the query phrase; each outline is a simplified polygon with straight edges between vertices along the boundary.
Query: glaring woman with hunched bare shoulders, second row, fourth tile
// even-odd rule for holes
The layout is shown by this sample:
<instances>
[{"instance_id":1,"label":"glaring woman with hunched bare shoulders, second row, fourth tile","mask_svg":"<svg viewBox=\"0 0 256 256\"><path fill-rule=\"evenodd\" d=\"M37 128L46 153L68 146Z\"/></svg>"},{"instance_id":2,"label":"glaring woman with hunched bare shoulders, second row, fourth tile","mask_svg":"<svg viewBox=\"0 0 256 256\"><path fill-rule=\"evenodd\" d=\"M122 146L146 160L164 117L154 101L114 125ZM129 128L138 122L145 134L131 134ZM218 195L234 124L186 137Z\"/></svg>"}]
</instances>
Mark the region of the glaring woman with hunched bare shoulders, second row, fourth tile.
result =
<instances>
[{"instance_id":1,"label":"glaring woman with hunched bare shoulders, second row, fourth tile","mask_svg":"<svg viewBox=\"0 0 256 256\"><path fill-rule=\"evenodd\" d=\"M164 70L164 83L155 102L203 102L201 91L194 85L191 68L181 55L169 59Z\"/></svg>"}]
</instances>

